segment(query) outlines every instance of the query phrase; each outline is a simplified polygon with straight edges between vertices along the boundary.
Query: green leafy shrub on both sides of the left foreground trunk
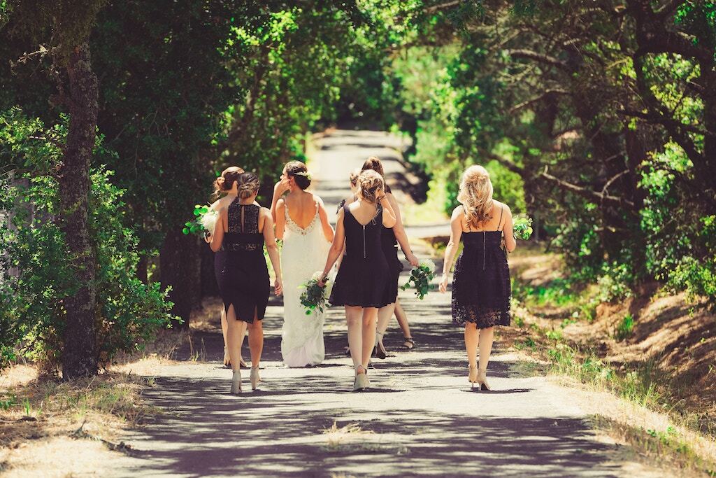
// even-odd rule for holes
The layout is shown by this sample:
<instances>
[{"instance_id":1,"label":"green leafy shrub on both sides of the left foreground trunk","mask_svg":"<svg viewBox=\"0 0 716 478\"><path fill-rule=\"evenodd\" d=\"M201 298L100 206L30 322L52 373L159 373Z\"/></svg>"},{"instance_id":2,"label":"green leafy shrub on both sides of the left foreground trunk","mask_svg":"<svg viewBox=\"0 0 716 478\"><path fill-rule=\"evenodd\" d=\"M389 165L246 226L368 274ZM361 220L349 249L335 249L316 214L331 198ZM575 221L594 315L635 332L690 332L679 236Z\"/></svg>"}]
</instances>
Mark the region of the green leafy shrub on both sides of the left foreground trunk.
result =
<instances>
[{"instance_id":1,"label":"green leafy shrub on both sides of the left foreground trunk","mask_svg":"<svg viewBox=\"0 0 716 478\"><path fill-rule=\"evenodd\" d=\"M74 287L64 236L54 221L59 194L50 167L59 157L56 138L64 138L66 123L44 131L39 120L27 120L19 110L2 115L0 154L25 168L0 178L0 367L21 355L54 368L62 357L62 301ZM101 146L95 153L109 154ZM88 226L97 267L100 363L119 350L141 348L174 320L167 291L135 275L137 238L122 224L123 191L112 185L111 174L104 168L90 174Z\"/></svg>"}]
</instances>

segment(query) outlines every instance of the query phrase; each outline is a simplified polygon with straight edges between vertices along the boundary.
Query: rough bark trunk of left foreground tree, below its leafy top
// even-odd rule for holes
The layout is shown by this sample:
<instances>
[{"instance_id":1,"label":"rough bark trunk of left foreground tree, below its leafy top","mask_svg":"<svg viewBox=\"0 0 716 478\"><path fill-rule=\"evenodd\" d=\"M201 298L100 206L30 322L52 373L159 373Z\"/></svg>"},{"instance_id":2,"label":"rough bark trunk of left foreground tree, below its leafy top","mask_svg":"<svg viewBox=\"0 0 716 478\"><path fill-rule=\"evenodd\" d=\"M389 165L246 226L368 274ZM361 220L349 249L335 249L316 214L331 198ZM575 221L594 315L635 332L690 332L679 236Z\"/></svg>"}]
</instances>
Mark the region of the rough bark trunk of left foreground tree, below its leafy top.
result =
<instances>
[{"instance_id":1,"label":"rough bark trunk of left foreground tree, below its leafy top","mask_svg":"<svg viewBox=\"0 0 716 478\"><path fill-rule=\"evenodd\" d=\"M84 42L69 56L69 131L59 168L59 222L67 241L77 291L64 298L67 320L62 350L62 378L97 373L95 336L95 256L87 229L89 163L97 126L97 77Z\"/></svg>"}]
</instances>

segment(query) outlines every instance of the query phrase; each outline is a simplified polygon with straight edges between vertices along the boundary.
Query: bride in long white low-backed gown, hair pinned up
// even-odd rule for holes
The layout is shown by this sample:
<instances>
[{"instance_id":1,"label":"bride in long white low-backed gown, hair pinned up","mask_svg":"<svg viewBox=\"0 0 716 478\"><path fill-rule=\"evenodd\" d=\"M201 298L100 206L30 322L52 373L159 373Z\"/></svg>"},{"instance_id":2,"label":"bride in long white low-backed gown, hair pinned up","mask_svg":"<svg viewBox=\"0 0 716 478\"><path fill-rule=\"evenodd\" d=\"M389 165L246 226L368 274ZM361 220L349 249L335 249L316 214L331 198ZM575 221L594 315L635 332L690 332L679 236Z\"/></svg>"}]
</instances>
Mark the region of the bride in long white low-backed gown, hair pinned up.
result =
<instances>
[{"instance_id":1,"label":"bride in long white low-backed gown, hair pinned up","mask_svg":"<svg viewBox=\"0 0 716 478\"><path fill-rule=\"evenodd\" d=\"M305 191L311 175L304 163L291 161L274 188L271 211L276 238L284 239L281 264L284 273L284 328L281 355L289 367L321 363L325 355L323 312L306 315L301 305L301 284L326 263L333 242L333 228L319 196ZM281 197L289 191L286 196Z\"/></svg>"}]
</instances>

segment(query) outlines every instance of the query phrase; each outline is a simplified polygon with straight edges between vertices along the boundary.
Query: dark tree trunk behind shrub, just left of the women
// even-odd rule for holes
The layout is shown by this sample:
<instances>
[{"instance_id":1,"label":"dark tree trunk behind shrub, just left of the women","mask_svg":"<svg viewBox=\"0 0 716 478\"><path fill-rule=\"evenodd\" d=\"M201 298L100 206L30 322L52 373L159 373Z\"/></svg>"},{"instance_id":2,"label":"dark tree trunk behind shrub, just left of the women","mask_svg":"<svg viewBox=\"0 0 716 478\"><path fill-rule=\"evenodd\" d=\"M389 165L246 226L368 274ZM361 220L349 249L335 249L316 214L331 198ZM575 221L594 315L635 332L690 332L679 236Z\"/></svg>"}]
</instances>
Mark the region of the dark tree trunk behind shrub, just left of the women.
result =
<instances>
[{"instance_id":1,"label":"dark tree trunk behind shrub, just left of the women","mask_svg":"<svg viewBox=\"0 0 716 478\"><path fill-rule=\"evenodd\" d=\"M171 230L164 239L159 252L159 268L162 288L170 285L169 300L174 302L172 312L184 321L183 328L189 327L189 317L194 307L200 304L201 263L198 238Z\"/></svg>"}]
</instances>

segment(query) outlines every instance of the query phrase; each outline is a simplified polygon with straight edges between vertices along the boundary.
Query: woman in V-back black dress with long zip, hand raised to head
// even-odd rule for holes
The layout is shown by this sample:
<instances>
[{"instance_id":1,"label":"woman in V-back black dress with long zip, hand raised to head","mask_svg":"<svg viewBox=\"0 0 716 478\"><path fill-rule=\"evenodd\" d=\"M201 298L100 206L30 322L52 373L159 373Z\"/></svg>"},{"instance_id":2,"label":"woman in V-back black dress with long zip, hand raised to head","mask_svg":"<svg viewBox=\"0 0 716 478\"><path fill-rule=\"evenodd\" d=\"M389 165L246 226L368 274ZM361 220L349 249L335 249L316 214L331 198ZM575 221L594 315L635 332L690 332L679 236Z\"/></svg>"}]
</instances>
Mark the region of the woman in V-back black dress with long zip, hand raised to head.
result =
<instances>
[{"instance_id":1,"label":"woman in V-back black dress with long zip, hand raised to head","mask_svg":"<svg viewBox=\"0 0 716 478\"><path fill-rule=\"evenodd\" d=\"M370 385L366 374L375 341L378 309L386 305L389 267L381 246L382 228L395 224L395 213L375 171L358 177L358 200L338 211L336 235L328 253L325 280L346 247L329 302L343 305L348 325L348 345L355 369L353 390Z\"/></svg>"}]
</instances>

